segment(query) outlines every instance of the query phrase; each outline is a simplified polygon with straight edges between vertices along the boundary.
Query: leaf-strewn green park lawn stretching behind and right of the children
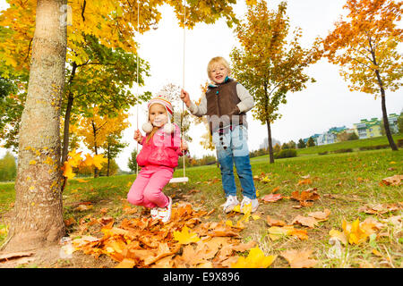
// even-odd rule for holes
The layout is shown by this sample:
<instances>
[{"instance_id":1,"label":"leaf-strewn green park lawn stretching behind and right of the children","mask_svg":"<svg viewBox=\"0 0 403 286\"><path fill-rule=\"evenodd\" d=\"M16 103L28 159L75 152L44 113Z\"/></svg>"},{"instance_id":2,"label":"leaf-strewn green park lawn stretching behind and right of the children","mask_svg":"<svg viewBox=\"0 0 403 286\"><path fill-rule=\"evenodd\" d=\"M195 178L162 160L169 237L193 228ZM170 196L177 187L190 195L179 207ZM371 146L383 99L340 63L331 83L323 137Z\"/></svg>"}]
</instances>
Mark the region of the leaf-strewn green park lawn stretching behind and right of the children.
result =
<instances>
[{"instance_id":1,"label":"leaf-strewn green park lawn stretching behind and right of the children","mask_svg":"<svg viewBox=\"0 0 403 286\"><path fill-rule=\"evenodd\" d=\"M360 222L366 217L385 219L392 215L401 214L401 209L386 214L365 214L358 208L366 204L389 204L403 202L401 186L385 186L380 184L382 179L395 174L403 174L403 150L393 152L390 149L361 151L343 154L297 156L278 159L269 164L268 156L254 157L251 160L256 189L258 189L260 206L257 215L260 219L250 219L241 231L244 241L255 240L266 255L279 255L279 252L288 249L313 250L312 257L318 263L315 267L402 267L403 235L400 228L389 224L386 232L370 244L368 241L359 245L347 245L343 248L342 257L330 257L329 231L342 231L343 220L352 223L359 218ZM182 170L176 170L175 176L182 176ZM186 169L189 177L187 184L170 184L165 188L167 195L177 203L189 202L194 209L205 209L215 212L208 218L210 221L227 221L234 224L241 219L241 214L223 214L222 205L225 202L221 188L220 172L217 165L200 166ZM265 182L261 179L266 178ZM305 178L311 183L298 185ZM124 218L138 215L149 216L150 212L137 207L137 212L128 214L124 208L129 206L126 201L127 191L135 179L135 175L121 175L101 177L97 179L83 179L84 181L70 180L64 190L64 219L73 223L67 227L68 233L80 228L81 220L90 217L100 218L112 216L116 224ZM236 178L236 185L239 181ZM289 197L295 190L316 188L320 199L312 206L295 208L298 202L289 198L282 198L274 203L262 203L262 198L275 189L276 193ZM242 196L238 188L238 199ZM8 194L8 195L7 195ZM10 208L13 202L12 184L0 185L0 206ZM80 204L92 206L88 210L77 209ZM291 223L297 214L306 216L308 213L330 209L327 221L319 223L315 228L308 229L296 226L307 231L308 240L299 240L285 236L279 240L270 240L267 215ZM204 218L203 218L204 220ZM1 228L1 225L0 225ZM90 231L94 231L89 229ZM0 237L1 244L1 237ZM373 249L382 256L373 254ZM388 258L390 257L390 258ZM271 267L288 267L287 261L279 256Z\"/></svg>"}]
</instances>

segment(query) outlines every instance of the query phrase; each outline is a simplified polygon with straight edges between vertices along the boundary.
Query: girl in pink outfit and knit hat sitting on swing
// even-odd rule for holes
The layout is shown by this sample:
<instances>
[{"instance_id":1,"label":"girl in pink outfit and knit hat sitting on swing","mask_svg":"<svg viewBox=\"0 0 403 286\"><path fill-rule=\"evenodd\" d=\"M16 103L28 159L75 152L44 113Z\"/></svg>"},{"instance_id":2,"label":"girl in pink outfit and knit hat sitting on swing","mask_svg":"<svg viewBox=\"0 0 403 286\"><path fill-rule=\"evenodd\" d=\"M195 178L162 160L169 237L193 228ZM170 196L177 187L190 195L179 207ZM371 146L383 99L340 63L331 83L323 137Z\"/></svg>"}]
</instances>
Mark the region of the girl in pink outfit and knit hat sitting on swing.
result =
<instances>
[{"instance_id":1,"label":"girl in pink outfit and knit hat sitting on swing","mask_svg":"<svg viewBox=\"0 0 403 286\"><path fill-rule=\"evenodd\" d=\"M148 103L149 122L134 132L134 139L142 145L137 156L141 166L136 180L127 194L129 203L151 208L151 218L163 223L171 217L172 198L162 189L167 185L177 166L178 156L187 152L186 142L181 142L180 129L171 123L173 108L164 97L156 97Z\"/></svg>"}]
</instances>

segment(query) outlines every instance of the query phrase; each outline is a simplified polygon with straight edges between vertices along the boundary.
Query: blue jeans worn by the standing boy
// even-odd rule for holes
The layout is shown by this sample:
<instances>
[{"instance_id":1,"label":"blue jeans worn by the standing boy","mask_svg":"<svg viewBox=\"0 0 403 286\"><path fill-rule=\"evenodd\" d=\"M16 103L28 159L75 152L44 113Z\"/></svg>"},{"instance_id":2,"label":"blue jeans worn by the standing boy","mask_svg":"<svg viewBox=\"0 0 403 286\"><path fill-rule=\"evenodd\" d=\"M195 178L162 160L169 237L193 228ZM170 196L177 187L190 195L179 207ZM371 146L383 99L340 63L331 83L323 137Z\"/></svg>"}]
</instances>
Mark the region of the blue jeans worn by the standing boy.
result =
<instances>
[{"instance_id":1,"label":"blue jeans worn by the standing boy","mask_svg":"<svg viewBox=\"0 0 403 286\"><path fill-rule=\"evenodd\" d=\"M241 187L244 189L244 197L256 198L247 139L247 129L243 125L234 126L232 130L228 127L224 129L222 134L219 131L212 134L212 141L217 150L221 170L222 188L226 197L229 195L236 196L233 168L235 164Z\"/></svg>"}]
</instances>

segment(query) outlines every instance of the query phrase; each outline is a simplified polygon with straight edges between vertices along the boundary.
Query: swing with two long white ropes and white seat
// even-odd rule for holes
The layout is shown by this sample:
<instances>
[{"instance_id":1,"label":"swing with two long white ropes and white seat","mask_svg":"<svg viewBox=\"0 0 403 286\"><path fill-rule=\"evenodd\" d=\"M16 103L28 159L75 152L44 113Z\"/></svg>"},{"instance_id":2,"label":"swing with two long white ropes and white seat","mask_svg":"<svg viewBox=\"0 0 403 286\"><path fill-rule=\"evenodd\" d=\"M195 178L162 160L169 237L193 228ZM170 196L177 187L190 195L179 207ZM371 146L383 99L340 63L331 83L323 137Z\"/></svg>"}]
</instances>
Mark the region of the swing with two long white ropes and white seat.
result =
<instances>
[{"instance_id":1,"label":"swing with two long white ropes and white seat","mask_svg":"<svg viewBox=\"0 0 403 286\"><path fill-rule=\"evenodd\" d=\"M137 4L137 33L140 35L140 4L139 0L136 1ZM186 1L184 0L184 48L183 48L183 64L182 64L182 87L184 88L184 50L185 50L185 29L186 29ZM137 96L139 96L139 45L137 41ZM139 130L139 105L136 104L136 128ZM184 133L184 102L182 102L182 114L181 114L181 146L182 139ZM136 144L136 155L139 154L139 142ZM182 161L183 161L183 169L184 169L184 177L183 178L172 178L169 182L185 182L189 179L186 177L185 165L184 165L184 151L182 151ZM136 176L139 174L139 165L136 163Z\"/></svg>"}]
</instances>

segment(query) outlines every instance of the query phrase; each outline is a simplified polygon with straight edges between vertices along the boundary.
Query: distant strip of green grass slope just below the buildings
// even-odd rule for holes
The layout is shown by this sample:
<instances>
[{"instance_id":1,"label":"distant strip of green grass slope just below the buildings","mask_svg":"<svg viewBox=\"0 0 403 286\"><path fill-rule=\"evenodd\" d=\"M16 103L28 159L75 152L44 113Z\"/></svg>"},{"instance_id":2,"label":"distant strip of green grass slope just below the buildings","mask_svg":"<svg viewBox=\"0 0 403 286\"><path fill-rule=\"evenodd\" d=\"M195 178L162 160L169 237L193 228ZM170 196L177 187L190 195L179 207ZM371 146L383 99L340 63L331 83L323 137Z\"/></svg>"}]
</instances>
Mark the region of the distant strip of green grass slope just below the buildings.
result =
<instances>
[{"instance_id":1,"label":"distant strip of green grass slope just below the buildings","mask_svg":"<svg viewBox=\"0 0 403 286\"><path fill-rule=\"evenodd\" d=\"M395 143L398 143L398 139L403 139L403 134L393 135L393 140ZM369 146L377 146L377 145L385 145L389 144L386 136L375 137L370 139L356 139L351 141L343 141L334 144L322 145L322 146L314 146L314 147L306 147L303 149L297 149L298 156L302 155L317 155L322 152L332 152L339 149L351 148L354 151L358 151L359 147L369 147Z\"/></svg>"}]
</instances>

